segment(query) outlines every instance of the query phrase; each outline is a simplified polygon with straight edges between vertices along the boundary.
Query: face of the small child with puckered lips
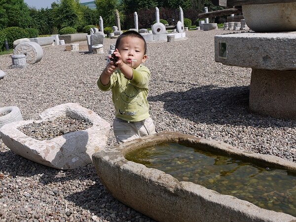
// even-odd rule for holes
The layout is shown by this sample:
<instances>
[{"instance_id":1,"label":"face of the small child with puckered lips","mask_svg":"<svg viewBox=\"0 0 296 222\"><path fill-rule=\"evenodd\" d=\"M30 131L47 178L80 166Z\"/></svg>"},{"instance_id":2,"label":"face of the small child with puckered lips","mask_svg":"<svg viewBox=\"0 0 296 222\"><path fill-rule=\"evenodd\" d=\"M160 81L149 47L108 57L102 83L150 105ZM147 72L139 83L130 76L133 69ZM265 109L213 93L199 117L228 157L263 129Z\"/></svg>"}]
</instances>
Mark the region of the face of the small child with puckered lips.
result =
<instances>
[{"instance_id":1,"label":"face of the small child with puckered lips","mask_svg":"<svg viewBox=\"0 0 296 222\"><path fill-rule=\"evenodd\" d=\"M144 55L144 41L138 37L123 37L120 40L118 51L121 55L122 62L134 69L147 59L147 55Z\"/></svg>"}]
</instances>

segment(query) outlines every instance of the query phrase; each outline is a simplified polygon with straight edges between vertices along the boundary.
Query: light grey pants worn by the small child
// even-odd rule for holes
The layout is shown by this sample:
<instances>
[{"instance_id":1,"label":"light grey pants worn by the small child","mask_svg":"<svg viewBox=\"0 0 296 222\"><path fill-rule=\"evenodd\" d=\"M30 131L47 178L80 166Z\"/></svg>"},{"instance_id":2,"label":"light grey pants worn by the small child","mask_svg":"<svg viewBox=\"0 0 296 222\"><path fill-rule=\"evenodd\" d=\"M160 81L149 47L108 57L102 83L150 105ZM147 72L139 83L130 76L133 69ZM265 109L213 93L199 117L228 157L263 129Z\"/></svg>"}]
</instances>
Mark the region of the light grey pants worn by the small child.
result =
<instances>
[{"instance_id":1,"label":"light grey pants worn by the small child","mask_svg":"<svg viewBox=\"0 0 296 222\"><path fill-rule=\"evenodd\" d=\"M155 126L151 117L138 122L130 122L115 118L113 130L118 144L141 138L155 133Z\"/></svg>"}]
</instances>

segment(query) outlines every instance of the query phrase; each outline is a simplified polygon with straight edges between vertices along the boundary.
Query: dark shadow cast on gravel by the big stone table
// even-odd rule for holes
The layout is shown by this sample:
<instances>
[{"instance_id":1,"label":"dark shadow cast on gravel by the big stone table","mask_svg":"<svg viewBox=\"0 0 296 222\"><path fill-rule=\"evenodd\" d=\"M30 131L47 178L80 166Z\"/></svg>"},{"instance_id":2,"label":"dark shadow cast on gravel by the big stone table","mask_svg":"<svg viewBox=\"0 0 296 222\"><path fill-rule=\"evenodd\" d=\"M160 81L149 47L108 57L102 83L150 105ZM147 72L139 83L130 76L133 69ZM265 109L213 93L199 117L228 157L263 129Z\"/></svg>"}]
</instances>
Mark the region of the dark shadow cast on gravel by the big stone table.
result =
<instances>
[{"instance_id":1,"label":"dark shadow cast on gravel by the big stone table","mask_svg":"<svg viewBox=\"0 0 296 222\"><path fill-rule=\"evenodd\" d=\"M166 92L148 97L164 102L164 110L196 123L244 126L278 126L278 119L249 111L249 86L206 85L185 92ZM290 121L281 121L291 126ZM286 126L283 125L283 126Z\"/></svg>"}]
</instances>

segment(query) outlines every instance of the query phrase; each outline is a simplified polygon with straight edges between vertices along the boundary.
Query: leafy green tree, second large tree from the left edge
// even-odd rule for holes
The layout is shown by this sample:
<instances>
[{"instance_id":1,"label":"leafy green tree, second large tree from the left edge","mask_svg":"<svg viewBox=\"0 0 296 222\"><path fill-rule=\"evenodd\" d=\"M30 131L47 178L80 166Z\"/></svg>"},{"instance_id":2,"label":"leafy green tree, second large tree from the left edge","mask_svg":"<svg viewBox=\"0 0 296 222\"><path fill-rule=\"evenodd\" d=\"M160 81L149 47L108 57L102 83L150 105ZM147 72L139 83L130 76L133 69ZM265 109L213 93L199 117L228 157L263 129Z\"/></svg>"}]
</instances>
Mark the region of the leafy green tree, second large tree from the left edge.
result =
<instances>
[{"instance_id":1,"label":"leafy green tree, second large tree from the left edge","mask_svg":"<svg viewBox=\"0 0 296 222\"><path fill-rule=\"evenodd\" d=\"M61 29L64 27L77 28L81 25L82 13L79 10L79 0L60 0L60 4L54 6L55 25Z\"/></svg>"}]
</instances>

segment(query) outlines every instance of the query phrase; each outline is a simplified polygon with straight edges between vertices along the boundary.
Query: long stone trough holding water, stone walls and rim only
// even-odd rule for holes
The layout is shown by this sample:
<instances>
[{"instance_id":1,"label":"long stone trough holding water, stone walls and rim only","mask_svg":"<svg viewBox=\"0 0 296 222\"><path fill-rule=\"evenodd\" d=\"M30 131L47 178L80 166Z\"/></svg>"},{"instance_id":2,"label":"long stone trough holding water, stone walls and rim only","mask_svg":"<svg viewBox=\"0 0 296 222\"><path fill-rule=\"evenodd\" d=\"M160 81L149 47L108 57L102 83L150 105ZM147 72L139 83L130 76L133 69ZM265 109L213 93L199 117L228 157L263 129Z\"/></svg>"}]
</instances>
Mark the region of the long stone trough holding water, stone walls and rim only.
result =
<instances>
[{"instance_id":1,"label":"long stone trough holding water, stone walls and rim only","mask_svg":"<svg viewBox=\"0 0 296 222\"><path fill-rule=\"evenodd\" d=\"M276 156L243 151L219 141L177 132L162 132L93 154L103 185L122 203L159 222L292 222L296 218L262 209L248 201L191 182L178 181L163 171L128 161L125 155L163 142L210 150L253 163L267 163L296 172L296 164Z\"/></svg>"}]
</instances>

